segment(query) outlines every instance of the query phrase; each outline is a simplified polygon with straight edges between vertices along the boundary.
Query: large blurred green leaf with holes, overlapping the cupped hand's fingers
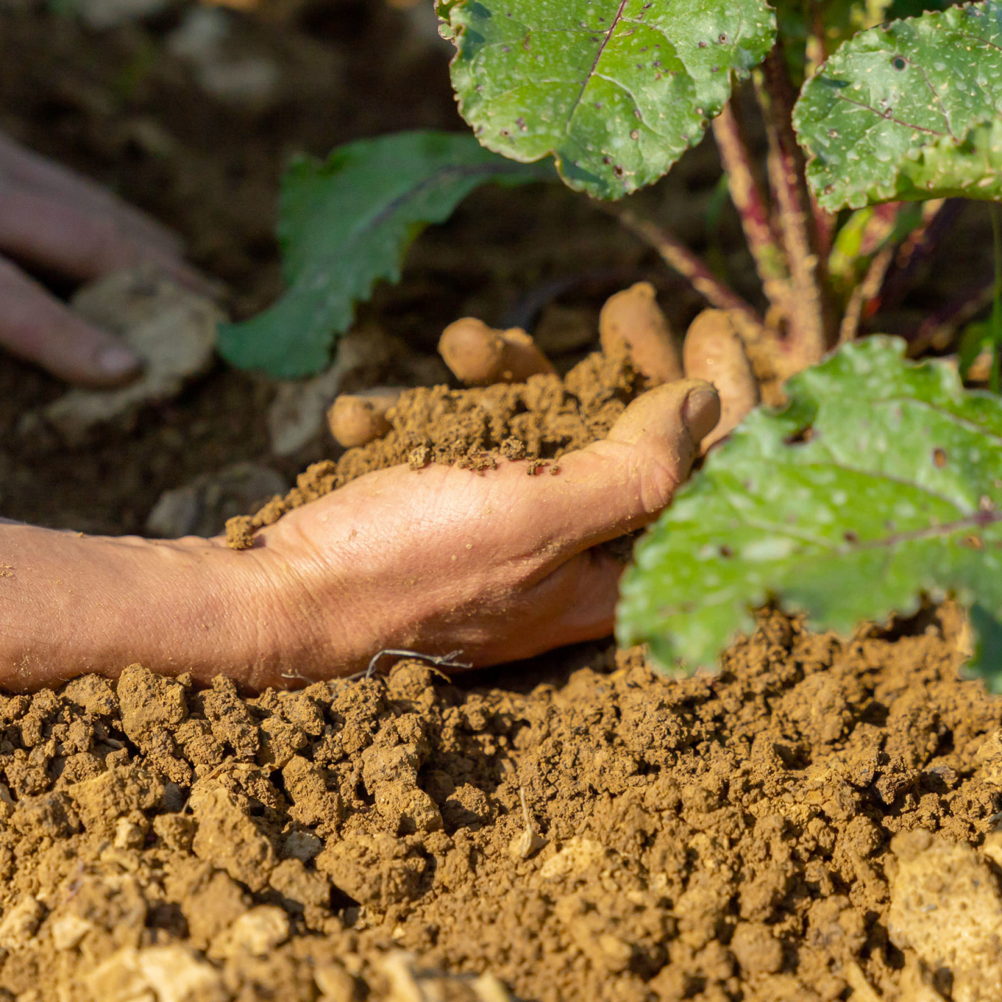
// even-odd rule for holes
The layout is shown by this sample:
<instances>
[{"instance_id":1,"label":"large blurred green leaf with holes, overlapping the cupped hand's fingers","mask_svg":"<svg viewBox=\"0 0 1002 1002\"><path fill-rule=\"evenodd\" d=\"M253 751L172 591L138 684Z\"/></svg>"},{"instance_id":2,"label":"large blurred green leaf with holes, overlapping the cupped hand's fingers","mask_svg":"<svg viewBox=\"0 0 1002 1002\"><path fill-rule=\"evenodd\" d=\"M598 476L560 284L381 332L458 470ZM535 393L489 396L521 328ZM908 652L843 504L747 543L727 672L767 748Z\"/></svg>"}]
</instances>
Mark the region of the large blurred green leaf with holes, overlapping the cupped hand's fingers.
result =
<instances>
[{"instance_id":1,"label":"large blurred green leaf with holes, overlapping the cupped hand's fingers","mask_svg":"<svg viewBox=\"0 0 1002 1002\"><path fill-rule=\"evenodd\" d=\"M997 628L1002 402L904 349L848 345L709 456L636 547L621 643L649 643L666 670L712 666L771 598L847 632L954 593ZM1002 664L975 666L1002 688Z\"/></svg>"}]
</instances>

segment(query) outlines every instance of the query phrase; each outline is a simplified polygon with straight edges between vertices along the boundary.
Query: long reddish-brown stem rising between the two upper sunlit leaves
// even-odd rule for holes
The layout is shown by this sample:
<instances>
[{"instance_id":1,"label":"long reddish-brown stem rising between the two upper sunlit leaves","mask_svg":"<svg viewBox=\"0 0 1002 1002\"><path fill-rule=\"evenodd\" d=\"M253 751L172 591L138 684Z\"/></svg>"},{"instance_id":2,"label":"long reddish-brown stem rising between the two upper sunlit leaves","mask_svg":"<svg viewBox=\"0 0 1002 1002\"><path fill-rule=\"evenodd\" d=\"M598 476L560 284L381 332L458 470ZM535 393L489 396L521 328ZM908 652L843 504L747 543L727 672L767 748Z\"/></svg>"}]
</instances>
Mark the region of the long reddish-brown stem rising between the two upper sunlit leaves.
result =
<instances>
[{"instance_id":1,"label":"long reddish-brown stem rising between the two upper sunlit leaves","mask_svg":"<svg viewBox=\"0 0 1002 1002\"><path fill-rule=\"evenodd\" d=\"M780 208L780 227L793 279L792 355L805 368L821 360L834 340L825 267L805 174L804 153L793 127L793 87L779 47L756 74L756 91L769 139L769 179Z\"/></svg>"}]
</instances>

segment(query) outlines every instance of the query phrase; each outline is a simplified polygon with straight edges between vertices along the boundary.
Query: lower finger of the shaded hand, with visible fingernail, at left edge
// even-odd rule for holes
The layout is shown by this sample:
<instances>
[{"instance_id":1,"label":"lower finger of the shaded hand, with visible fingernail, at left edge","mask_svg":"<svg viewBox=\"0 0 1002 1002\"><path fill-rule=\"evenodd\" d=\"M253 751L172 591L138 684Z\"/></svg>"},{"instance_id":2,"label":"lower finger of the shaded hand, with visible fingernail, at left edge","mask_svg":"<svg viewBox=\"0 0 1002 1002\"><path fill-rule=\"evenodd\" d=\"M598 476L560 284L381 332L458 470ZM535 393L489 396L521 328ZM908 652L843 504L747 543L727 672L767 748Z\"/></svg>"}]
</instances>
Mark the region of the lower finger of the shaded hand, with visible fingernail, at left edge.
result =
<instances>
[{"instance_id":1,"label":"lower finger of the shaded hand, with visible fingernail, at left edge","mask_svg":"<svg viewBox=\"0 0 1002 1002\"><path fill-rule=\"evenodd\" d=\"M37 283L0 259L0 345L70 383L113 387L142 369L139 357L82 321Z\"/></svg>"}]
</instances>

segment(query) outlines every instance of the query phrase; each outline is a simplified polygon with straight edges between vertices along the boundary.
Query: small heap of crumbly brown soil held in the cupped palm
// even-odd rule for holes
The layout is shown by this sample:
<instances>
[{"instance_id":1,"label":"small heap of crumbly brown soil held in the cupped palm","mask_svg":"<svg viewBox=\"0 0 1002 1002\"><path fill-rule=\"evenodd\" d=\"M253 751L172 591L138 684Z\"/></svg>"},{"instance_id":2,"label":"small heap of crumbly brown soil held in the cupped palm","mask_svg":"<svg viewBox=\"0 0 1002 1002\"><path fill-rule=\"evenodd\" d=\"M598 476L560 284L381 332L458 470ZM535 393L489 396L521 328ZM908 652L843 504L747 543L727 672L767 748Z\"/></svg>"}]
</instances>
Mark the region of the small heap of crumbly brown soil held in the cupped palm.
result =
<instances>
[{"instance_id":1,"label":"small heap of crumbly brown soil held in the cupped palm","mask_svg":"<svg viewBox=\"0 0 1002 1002\"><path fill-rule=\"evenodd\" d=\"M226 522L234 549L253 545L255 530L286 512L315 501L356 477L410 463L455 464L472 470L497 466L500 457L528 459L534 474L564 453L604 438L626 405L647 383L626 350L595 352L567 375L532 376L525 383L451 390L447 386L407 390L387 415L392 428L339 460L314 463L285 497L275 497L255 515ZM550 465L550 472L558 467Z\"/></svg>"}]
</instances>

